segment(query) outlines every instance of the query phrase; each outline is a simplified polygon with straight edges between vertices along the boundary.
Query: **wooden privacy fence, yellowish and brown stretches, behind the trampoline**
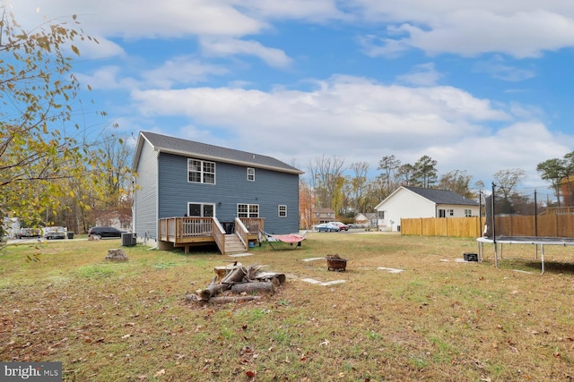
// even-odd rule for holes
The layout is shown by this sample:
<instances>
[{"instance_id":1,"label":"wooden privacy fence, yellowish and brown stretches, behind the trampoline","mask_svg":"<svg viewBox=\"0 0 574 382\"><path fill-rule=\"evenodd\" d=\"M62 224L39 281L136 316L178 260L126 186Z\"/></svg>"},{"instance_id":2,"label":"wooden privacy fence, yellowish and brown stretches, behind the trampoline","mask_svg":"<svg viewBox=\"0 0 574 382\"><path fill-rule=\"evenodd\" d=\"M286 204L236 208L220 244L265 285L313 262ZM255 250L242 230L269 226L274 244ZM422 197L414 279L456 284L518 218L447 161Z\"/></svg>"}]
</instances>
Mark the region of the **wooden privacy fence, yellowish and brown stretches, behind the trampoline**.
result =
<instances>
[{"instance_id":1,"label":"wooden privacy fence, yellowish and brown stretches, behind the trampoline","mask_svg":"<svg viewBox=\"0 0 574 382\"><path fill-rule=\"evenodd\" d=\"M418 236L480 237L486 217L419 217L401 219L401 233ZM496 216L497 236L574 237L574 215Z\"/></svg>"}]
</instances>

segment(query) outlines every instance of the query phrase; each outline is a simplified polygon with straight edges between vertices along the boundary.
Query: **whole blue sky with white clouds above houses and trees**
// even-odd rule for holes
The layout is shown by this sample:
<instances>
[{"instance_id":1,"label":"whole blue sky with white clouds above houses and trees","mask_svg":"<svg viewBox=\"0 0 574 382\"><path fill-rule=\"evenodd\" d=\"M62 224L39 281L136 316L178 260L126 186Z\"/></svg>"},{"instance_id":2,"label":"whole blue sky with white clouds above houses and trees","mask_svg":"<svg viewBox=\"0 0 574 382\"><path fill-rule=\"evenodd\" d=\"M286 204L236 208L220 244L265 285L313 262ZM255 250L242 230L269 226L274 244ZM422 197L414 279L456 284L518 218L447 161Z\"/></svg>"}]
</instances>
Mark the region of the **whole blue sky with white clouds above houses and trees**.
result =
<instances>
[{"instance_id":1,"label":"whole blue sky with white clouds above houses and trees","mask_svg":"<svg viewBox=\"0 0 574 382\"><path fill-rule=\"evenodd\" d=\"M565 0L26 0L70 21L74 72L117 133L160 132L350 166L423 155L487 186L574 150L574 3ZM91 121L91 118L88 118ZM350 173L349 173L350 174Z\"/></svg>"}]
</instances>

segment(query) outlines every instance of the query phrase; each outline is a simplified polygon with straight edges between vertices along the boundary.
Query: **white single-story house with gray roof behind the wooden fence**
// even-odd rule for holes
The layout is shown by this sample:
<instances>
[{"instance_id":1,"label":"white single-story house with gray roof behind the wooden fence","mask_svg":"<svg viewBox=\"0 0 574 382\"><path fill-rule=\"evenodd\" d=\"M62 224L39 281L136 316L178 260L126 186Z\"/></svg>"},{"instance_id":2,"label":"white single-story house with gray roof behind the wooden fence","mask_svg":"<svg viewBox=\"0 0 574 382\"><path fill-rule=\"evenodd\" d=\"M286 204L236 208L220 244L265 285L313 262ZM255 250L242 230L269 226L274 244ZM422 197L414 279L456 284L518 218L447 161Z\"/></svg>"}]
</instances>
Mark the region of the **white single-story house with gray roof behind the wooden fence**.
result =
<instances>
[{"instance_id":1,"label":"white single-story house with gray roof behind the wooden fence","mask_svg":"<svg viewBox=\"0 0 574 382\"><path fill-rule=\"evenodd\" d=\"M448 190L401 186L378 203L379 231L400 231L402 218L478 216L479 204Z\"/></svg>"}]
</instances>

